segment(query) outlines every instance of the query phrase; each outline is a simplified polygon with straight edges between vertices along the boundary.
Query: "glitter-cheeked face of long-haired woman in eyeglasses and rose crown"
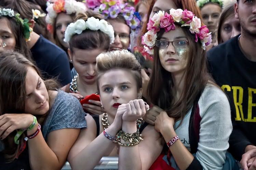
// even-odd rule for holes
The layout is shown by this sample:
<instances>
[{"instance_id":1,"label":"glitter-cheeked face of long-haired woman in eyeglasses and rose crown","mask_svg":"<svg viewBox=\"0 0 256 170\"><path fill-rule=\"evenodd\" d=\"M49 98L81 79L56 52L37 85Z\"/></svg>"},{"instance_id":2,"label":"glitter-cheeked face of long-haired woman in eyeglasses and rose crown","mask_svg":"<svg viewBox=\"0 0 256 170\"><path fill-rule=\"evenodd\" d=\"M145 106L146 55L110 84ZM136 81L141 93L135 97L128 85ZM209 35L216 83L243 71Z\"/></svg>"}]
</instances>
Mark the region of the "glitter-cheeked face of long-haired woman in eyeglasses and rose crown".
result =
<instances>
[{"instance_id":1,"label":"glitter-cheeked face of long-haired woman in eyeglasses and rose crown","mask_svg":"<svg viewBox=\"0 0 256 170\"><path fill-rule=\"evenodd\" d=\"M164 34L159 39L159 60L163 68L170 73L182 73L187 66L189 45L188 39L179 27ZM167 45L169 43L169 45ZM172 43L173 42L173 43ZM167 46L167 47L166 47Z\"/></svg>"}]
</instances>

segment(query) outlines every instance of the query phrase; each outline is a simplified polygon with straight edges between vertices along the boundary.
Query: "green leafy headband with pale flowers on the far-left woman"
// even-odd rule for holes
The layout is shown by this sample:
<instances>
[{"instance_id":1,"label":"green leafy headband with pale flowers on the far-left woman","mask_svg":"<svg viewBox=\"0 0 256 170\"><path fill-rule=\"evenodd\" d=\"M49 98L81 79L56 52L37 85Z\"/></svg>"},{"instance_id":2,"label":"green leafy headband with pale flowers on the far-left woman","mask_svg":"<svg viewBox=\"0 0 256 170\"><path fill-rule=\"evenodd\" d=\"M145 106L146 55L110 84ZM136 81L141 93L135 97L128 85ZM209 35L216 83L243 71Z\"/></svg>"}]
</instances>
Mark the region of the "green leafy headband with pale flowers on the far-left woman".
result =
<instances>
[{"instance_id":1,"label":"green leafy headband with pale flowers on the far-left woman","mask_svg":"<svg viewBox=\"0 0 256 170\"><path fill-rule=\"evenodd\" d=\"M0 16L9 16L9 17L15 17L16 21L22 25L22 32L24 37L26 38L26 41L29 41L30 33L33 31L32 28L29 27L29 20L25 18L24 20L20 17L20 14L14 14L14 11L12 9L1 9L0 8Z\"/></svg>"}]
</instances>

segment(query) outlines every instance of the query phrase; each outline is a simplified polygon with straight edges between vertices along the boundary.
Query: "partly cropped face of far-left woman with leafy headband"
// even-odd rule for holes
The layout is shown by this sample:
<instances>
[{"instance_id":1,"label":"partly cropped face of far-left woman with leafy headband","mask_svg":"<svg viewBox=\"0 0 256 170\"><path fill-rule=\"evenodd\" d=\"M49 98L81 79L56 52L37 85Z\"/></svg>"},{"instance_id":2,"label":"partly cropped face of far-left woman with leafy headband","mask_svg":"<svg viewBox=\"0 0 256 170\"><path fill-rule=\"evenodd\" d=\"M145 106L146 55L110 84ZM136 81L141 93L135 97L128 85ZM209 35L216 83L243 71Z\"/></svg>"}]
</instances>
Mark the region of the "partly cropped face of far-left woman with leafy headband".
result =
<instances>
[{"instance_id":1,"label":"partly cropped face of far-left woman with leafy headband","mask_svg":"<svg viewBox=\"0 0 256 170\"><path fill-rule=\"evenodd\" d=\"M15 49L16 40L10 24L6 17L0 18L0 53Z\"/></svg>"}]
</instances>

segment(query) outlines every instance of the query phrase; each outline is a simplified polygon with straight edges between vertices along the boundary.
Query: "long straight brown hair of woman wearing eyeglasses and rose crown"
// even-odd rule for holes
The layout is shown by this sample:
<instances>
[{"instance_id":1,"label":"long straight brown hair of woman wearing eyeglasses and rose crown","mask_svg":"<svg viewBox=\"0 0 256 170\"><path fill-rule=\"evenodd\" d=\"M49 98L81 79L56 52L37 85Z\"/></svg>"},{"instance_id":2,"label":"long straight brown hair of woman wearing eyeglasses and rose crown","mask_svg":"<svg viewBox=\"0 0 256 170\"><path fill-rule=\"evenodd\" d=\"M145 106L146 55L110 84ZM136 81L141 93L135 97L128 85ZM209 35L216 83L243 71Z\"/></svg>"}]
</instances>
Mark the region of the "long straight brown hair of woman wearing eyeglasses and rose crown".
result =
<instances>
[{"instance_id":1,"label":"long straight brown hair of woman wearing eyeglasses and rose crown","mask_svg":"<svg viewBox=\"0 0 256 170\"><path fill-rule=\"evenodd\" d=\"M165 110L169 117L181 118L182 122L196 97L205 88L206 83L209 80L213 81L207 73L206 52L202 50L201 43L195 43L195 36L190 33L189 29L176 25L177 27L183 30L189 41L187 66L184 73L185 82L180 99L174 103L172 74L161 65L157 46L154 47L153 69L147 93L152 104ZM161 38L163 33L164 30L161 29L158 33L158 39Z\"/></svg>"}]
</instances>

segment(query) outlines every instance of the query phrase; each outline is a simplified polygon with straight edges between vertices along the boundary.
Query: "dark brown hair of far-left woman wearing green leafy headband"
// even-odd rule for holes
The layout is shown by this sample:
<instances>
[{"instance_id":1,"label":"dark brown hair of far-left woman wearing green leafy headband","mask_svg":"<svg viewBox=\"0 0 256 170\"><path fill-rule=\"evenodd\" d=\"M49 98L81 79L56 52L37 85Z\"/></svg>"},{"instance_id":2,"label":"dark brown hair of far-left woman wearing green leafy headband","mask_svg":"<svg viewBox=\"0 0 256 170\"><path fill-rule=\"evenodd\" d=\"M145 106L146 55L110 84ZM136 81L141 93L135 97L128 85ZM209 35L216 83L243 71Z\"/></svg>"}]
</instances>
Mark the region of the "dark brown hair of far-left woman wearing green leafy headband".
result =
<instances>
[{"instance_id":1,"label":"dark brown hair of far-left woman wearing green leafy headband","mask_svg":"<svg viewBox=\"0 0 256 170\"><path fill-rule=\"evenodd\" d=\"M0 6L1 7L1 6ZM3 7L1 7L3 8ZM15 17L9 17L9 16L0 16L0 19L6 18L8 19L9 26L11 28L11 31L15 37L15 51L18 51L22 53L24 56L26 56L28 59L31 60L31 53L30 49L28 48L28 45L26 43L26 38L23 35L23 27L21 23L17 22Z\"/></svg>"}]
</instances>

